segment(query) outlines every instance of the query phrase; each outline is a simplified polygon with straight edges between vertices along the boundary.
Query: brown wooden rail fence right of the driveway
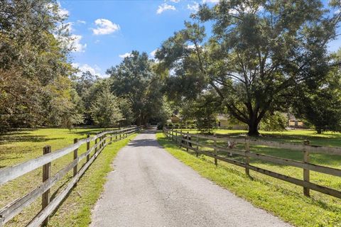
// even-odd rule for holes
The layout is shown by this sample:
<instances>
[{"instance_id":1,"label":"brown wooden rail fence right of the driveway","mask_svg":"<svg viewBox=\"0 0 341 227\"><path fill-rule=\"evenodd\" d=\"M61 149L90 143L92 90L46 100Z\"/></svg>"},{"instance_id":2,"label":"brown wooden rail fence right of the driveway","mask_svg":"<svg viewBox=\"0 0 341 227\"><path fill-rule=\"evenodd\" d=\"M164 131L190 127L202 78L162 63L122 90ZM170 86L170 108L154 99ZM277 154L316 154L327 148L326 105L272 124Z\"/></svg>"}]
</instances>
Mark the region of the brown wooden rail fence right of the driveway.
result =
<instances>
[{"instance_id":1,"label":"brown wooden rail fence right of the driveway","mask_svg":"<svg viewBox=\"0 0 341 227\"><path fill-rule=\"evenodd\" d=\"M215 159L215 165L217 165L217 160L222 160L224 162L228 162L233 165L238 165L239 167L244 167L245 172L249 175L249 170L253 170L255 172L260 172L261 174L268 175L269 177L274 177L276 179L281 179L286 182L290 182L292 184L299 185L303 187L303 193L306 196L310 196L310 189L321 192L323 194L328 194L330 196L335 196L341 199L341 192L332 189L329 187L324 187L319 184L314 184L310 182L310 170L315 172L320 172L327 175L333 175L336 177L341 177L341 170L335 169L332 167L326 167L322 165L314 165L310 163L309 155L310 153L323 153L329 155L341 155L341 148L335 147L323 147L316 145L309 145L308 141L305 141L303 144L296 143L281 143L275 141L267 141L267 140L256 140L251 138L234 138L234 137L217 137L212 135L197 135L190 133L183 133L180 131L174 131L173 129L163 128L163 133L171 140L178 143L180 146L186 148L187 150L194 150L195 154L207 155L209 157L213 157ZM199 139L203 140L212 140L214 145L201 143ZM227 148L217 145L217 141L223 142L234 142L239 144L244 144L244 149L237 148ZM185 142L185 143L184 143ZM196 146L193 146L196 145ZM264 145L267 147L273 148L284 148L288 150L301 150L303 152L303 161L298 160L290 160L282 157L274 157L271 155L264 155L259 153L252 153L250 151L250 145ZM204 150L200 150L199 147L203 148L211 148L213 149L213 153L207 152ZM244 157L244 162L239 160L232 160L229 157L221 157L217 155L217 151L226 152L229 154L240 155ZM292 167L298 167L303 169L303 179L297 179L294 177L289 177L286 175L279 174L277 172L272 172L270 170L264 170L260 167L256 167L254 165L250 165L250 157L266 162L272 162L279 165L288 165Z\"/></svg>"}]
</instances>

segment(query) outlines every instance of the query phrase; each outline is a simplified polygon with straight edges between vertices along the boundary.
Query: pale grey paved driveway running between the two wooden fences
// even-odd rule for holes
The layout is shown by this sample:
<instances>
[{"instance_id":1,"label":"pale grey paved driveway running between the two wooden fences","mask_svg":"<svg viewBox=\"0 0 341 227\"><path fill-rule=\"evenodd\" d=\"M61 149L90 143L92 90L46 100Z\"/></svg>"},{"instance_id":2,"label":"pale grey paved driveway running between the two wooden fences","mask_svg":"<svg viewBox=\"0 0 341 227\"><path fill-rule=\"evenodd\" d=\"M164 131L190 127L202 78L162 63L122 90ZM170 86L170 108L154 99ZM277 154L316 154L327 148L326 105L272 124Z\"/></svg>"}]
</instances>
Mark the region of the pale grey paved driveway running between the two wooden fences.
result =
<instances>
[{"instance_id":1,"label":"pale grey paved driveway running between the two wooden fences","mask_svg":"<svg viewBox=\"0 0 341 227\"><path fill-rule=\"evenodd\" d=\"M90 226L290 226L200 177L155 131L137 135L113 165Z\"/></svg>"}]
</instances>

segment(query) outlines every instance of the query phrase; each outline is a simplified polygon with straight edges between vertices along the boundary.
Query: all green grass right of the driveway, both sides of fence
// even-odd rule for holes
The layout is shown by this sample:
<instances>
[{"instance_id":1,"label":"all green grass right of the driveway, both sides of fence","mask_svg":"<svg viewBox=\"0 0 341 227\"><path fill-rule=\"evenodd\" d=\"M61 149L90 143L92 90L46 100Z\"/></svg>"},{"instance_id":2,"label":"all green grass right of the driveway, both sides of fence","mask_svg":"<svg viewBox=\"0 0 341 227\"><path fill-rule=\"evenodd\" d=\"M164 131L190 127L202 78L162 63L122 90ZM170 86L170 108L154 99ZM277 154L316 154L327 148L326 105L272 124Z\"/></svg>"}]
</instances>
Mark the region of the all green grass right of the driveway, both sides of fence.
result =
<instances>
[{"instance_id":1,"label":"all green grass right of the driveway, both sides of fence","mask_svg":"<svg viewBox=\"0 0 341 227\"><path fill-rule=\"evenodd\" d=\"M183 130L187 132L188 130ZM189 131L197 133L197 131ZM219 134L244 136L246 131L219 130ZM314 131L285 131L285 132L261 132L264 140L276 140L290 143L303 143L303 140L310 140L312 145L340 146L340 133L316 134ZM276 216L280 216L284 221L288 221L295 226L341 226L341 199L314 192L310 190L310 197L303 195L303 188L294 184L283 182L280 179L261 175L250 170L250 179L245 175L242 167L228 164L218 160L218 167L215 167L211 157L200 155L195 157L193 153L185 153L185 149L180 149L171 141L167 140L163 133L158 133L158 141L168 152L193 167L203 177L207 177L220 186L229 189L238 196L251 201ZM212 140L200 140L202 143L212 144ZM223 142L218 143L224 145ZM238 148L244 148L244 144L238 144ZM200 148L212 151L210 148ZM280 148L269 148L265 146L251 146L251 152L285 157L292 160L303 160L302 151L286 150ZM227 153L218 153L220 156L227 156ZM243 157L234 155L235 160L243 161ZM310 154L310 161L314 164L325 165L341 169L341 156L325 155L320 153ZM296 167L277 165L271 162L251 159L251 165L261 167L266 170L303 179L303 170ZM333 189L341 190L341 177L334 177L318 172L310 171L310 181Z\"/></svg>"}]
</instances>

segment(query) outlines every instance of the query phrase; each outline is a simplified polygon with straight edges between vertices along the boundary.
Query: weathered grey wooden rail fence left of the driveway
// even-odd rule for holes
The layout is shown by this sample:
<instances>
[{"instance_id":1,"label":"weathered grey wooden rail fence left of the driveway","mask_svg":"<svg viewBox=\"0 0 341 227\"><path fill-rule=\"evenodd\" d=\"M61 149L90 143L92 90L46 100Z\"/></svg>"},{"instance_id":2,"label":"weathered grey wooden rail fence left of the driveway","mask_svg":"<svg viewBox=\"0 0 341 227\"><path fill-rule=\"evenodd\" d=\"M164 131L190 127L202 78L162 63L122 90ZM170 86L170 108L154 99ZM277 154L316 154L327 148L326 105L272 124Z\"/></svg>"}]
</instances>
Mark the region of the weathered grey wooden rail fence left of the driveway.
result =
<instances>
[{"instance_id":1,"label":"weathered grey wooden rail fence left of the driveway","mask_svg":"<svg viewBox=\"0 0 341 227\"><path fill-rule=\"evenodd\" d=\"M45 146L45 148L43 148L42 156L22 162L18 165L0 169L1 185L16 179L17 177L21 177L28 172L36 170L39 167L43 167L42 184L36 187L36 189L33 189L31 192L28 192L28 194L25 196L12 201L10 204L7 204L4 206L4 208L0 209L0 227L3 226L4 223L10 221L11 218L19 214L24 208L32 204L33 201L36 201L39 196L42 196L42 209L39 214L33 218L30 223L28 223L28 226L33 227L47 224L50 214L52 214L53 211L58 208L58 205L63 201L63 199L65 199L70 190L77 185L78 179L80 179L85 170L87 170L91 163L94 162L102 150L110 143L126 138L129 134L140 131L141 128L142 127L140 126L124 128L117 131L104 131L93 137L87 135L87 138L82 140L78 140L76 138L73 145L60 150L55 150L52 153L51 147ZM95 141L95 144L92 146L92 148L90 148L91 141ZM85 143L87 144L87 150L85 153L78 155L78 148ZM71 152L73 152L73 161L66 165L62 170L58 171L55 175L50 177L51 162ZM91 155L92 152L94 153ZM85 157L87 157L87 162L85 162L80 170L78 170L78 163ZM70 170L73 170L72 179L70 179L70 182L68 182L63 191L50 201L50 188L53 187L53 185L55 185L55 183L60 179L63 179L63 177L65 177L67 172Z\"/></svg>"}]
</instances>

